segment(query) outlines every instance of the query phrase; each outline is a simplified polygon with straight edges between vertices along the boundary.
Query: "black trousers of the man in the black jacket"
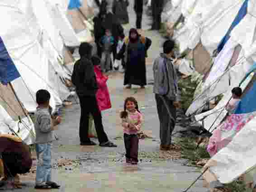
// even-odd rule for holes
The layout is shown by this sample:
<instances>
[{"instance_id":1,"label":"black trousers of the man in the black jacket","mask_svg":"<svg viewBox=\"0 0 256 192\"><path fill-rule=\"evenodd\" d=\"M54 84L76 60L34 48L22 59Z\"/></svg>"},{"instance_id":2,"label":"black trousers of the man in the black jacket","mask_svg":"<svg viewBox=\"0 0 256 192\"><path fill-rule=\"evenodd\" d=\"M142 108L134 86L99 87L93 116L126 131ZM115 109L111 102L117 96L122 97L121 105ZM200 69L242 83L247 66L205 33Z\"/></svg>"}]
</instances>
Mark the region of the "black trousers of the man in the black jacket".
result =
<instances>
[{"instance_id":1,"label":"black trousers of the man in the black jacket","mask_svg":"<svg viewBox=\"0 0 256 192\"><path fill-rule=\"evenodd\" d=\"M81 118L80 118L80 128L79 128L79 136L81 143L90 142L90 138L88 137L89 130L89 114L93 116L95 130L98 135L98 139L100 143L105 143L109 139L104 131L102 124L102 116L100 109L98 107L98 103L96 100L96 96L81 96L78 95L81 106Z\"/></svg>"}]
</instances>

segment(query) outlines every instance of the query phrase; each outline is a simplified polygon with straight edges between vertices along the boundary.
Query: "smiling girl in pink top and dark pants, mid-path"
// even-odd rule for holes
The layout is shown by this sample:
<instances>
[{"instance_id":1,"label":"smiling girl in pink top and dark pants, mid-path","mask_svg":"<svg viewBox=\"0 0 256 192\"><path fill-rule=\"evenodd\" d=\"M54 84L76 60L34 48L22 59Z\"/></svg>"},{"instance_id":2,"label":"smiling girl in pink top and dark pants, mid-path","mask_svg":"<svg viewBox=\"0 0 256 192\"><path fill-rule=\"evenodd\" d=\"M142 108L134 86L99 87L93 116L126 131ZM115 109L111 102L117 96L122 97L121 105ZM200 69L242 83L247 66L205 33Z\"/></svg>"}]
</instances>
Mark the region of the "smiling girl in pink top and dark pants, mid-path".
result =
<instances>
[{"instance_id":1,"label":"smiling girl in pink top and dark pants, mid-path","mask_svg":"<svg viewBox=\"0 0 256 192\"><path fill-rule=\"evenodd\" d=\"M142 114L135 98L128 97L124 101L124 110L120 113L123 126L123 140L126 150L126 163L138 163L138 131L142 126Z\"/></svg>"}]
</instances>

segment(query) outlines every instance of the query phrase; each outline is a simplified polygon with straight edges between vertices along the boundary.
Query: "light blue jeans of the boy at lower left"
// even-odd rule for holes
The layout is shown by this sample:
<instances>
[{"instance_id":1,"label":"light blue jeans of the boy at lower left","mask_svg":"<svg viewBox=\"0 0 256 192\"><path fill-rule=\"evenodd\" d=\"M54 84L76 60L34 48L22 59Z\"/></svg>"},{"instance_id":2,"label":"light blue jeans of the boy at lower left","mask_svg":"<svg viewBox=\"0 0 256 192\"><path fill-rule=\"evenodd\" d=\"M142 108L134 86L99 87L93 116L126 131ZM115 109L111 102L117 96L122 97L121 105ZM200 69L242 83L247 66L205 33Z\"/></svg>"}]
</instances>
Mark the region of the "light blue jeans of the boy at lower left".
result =
<instances>
[{"instance_id":1,"label":"light blue jeans of the boy at lower left","mask_svg":"<svg viewBox=\"0 0 256 192\"><path fill-rule=\"evenodd\" d=\"M52 142L36 144L37 174L36 185L51 181Z\"/></svg>"}]
</instances>

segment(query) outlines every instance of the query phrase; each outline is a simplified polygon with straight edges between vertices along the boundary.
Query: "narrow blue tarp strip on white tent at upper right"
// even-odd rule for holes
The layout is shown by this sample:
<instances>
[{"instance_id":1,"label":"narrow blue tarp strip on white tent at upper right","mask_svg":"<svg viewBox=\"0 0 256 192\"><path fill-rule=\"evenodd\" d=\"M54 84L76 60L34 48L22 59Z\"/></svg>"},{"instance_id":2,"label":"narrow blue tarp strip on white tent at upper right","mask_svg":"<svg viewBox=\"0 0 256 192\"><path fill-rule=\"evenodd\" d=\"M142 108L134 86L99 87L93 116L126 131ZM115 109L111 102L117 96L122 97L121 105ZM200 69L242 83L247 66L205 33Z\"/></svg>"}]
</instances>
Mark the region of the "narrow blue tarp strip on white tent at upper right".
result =
<instances>
[{"instance_id":1,"label":"narrow blue tarp strip on white tent at upper right","mask_svg":"<svg viewBox=\"0 0 256 192\"><path fill-rule=\"evenodd\" d=\"M238 23L240 23L240 21L244 18L244 16L247 14L247 7L248 7L248 1L249 0L245 0L242 7L239 9L238 14L235 18L235 20L233 21L233 23L231 24L230 28L228 29L228 32L226 33L226 35L223 37L223 39L221 40L221 42L218 45L218 52L220 52L225 43L228 41L228 39L230 38L230 33L232 32L233 28L235 28L237 26Z\"/></svg>"}]
</instances>

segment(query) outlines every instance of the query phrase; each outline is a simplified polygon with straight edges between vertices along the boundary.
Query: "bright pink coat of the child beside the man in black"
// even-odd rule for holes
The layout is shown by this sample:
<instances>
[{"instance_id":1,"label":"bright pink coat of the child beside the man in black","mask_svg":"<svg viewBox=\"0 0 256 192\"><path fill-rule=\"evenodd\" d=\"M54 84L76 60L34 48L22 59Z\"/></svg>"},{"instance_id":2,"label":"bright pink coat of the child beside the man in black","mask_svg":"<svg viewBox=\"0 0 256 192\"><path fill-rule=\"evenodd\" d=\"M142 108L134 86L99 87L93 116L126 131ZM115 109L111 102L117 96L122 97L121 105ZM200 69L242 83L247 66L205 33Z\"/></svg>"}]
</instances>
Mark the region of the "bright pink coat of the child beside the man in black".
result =
<instances>
[{"instance_id":1,"label":"bright pink coat of the child beside the man in black","mask_svg":"<svg viewBox=\"0 0 256 192\"><path fill-rule=\"evenodd\" d=\"M94 66L94 72L96 75L96 80L99 86L99 89L96 93L96 98L100 111L111 108L111 102L109 97L109 89L107 86L107 76L104 76L100 70L100 66Z\"/></svg>"}]
</instances>

